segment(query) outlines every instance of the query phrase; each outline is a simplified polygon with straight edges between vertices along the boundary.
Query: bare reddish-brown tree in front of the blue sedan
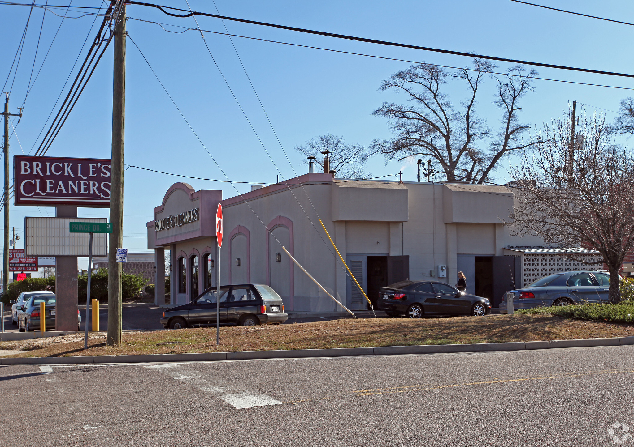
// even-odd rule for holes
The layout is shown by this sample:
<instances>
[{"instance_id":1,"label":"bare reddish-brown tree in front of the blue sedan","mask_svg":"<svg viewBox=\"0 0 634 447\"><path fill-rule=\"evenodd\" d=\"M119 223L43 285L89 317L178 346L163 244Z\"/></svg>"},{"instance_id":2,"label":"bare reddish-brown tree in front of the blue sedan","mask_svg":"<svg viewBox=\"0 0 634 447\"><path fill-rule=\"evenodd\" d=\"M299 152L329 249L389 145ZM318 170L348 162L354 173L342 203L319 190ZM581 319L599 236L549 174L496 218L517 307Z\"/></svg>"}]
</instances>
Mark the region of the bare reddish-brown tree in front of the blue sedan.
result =
<instances>
[{"instance_id":1,"label":"bare reddish-brown tree in front of the blue sedan","mask_svg":"<svg viewBox=\"0 0 634 447\"><path fill-rule=\"evenodd\" d=\"M570 124L568 118L547 126L538 150L512 168L519 187L509 229L562 248L597 250L610 272L609 300L618 303L618 272L634 247L634 158L612 144L605 116L585 116L578 127L584 144L574 150L571 169Z\"/></svg>"}]
</instances>

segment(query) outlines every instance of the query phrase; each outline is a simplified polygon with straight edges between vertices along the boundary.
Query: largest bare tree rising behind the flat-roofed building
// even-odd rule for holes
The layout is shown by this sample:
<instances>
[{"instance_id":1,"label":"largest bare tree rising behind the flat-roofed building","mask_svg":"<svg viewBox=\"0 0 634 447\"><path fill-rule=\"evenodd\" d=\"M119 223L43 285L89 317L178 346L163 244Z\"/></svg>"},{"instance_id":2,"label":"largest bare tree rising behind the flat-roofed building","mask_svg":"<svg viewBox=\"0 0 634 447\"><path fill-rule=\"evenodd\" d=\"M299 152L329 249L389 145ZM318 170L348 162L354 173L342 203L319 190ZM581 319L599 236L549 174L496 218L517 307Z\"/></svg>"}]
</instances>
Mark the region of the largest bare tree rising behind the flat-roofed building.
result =
<instances>
[{"instance_id":1,"label":"largest bare tree rising behind the flat-roofed building","mask_svg":"<svg viewBox=\"0 0 634 447\"><path fill-rule=\"evenodd\" d=\"M502 78L495 79L496 97L493 103L502 111L501 127L489 129L486 120L475 113L476 98L481 84L496 66L474 58L473 67L448 72L436 65L412 65L385 80L380 90L403 92L410 105L384 103L374 115L383 116L396 134L391 140L375 140L372 149L390 160L408 156L429 156L437 172L448 180L463 180L482 184L491 176L496 165L513 151L531 146L522 142L529 125L519 123L519 100L533 91L534 70L518 65ZM457 103L450 100L444 87L460 81L467 87L467 96Z\"/></svg>"}]
</instances>

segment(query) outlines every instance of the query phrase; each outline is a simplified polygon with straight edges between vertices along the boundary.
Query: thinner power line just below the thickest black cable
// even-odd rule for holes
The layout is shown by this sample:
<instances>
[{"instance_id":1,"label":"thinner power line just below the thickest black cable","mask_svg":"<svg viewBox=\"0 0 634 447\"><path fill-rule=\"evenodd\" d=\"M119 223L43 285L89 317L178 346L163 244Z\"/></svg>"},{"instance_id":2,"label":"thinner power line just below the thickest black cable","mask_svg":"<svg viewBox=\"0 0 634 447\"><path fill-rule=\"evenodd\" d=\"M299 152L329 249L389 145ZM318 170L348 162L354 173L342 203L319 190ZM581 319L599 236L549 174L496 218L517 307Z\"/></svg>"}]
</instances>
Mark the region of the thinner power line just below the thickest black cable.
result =
<instances>
[{"instance_id":1,"label":"thinner power line just below the thickest black cable","mask_svg":"<svg viewBox=\"0 0 634 447\"><path fill-rule=\"evenodd\" d=\"M127 19L128 20L137 20L138 22L145 22L145 23L152 23L154 25L159 25L159 27L161 27L164 31L172 32L172 33L175 33L175 34L183 34L184 32L187 32L187 31L210 32L210 33L213 33L213 34L227 35L227 36L230 36L230 37L242 37L243 39L252 39L254 41L271 42L271 43L274 43L274 44L283 44L283 45L290 45L290 46L311 48L311 49L320 49L320 50L323 50L323 51L332 51L333 53L353 54L354 56L365 56L366 58L384 59L384 60L389 60L389 61L408 62L408 63L415 63L415 64L429 64L429 65L441 66L443 68L453 68L455 70L467 70L469 72L477 72L477 70L474 70L473 68L464 68L464 67L460 67L460 66L451 66L451 65L440 65L440 64L436 64L436 63L422 62L422 61L411 61L411 60L407 60L407 59L388 58L386 56L376 56L375 54L354 53L353 51L343 51L343 50L332 49L332 48L315 47L315 46L301 45L301 44L292 44L290 42L271 41L269 39L260 39L259 37L250 37L248 35L230 34L228 32L224 33L224 32L211 31L211 30L203 30L203 29L200 29L200 28L181 27L179 25L172 25L171 23L151 22L150 20L143 20L143 19L140 19L140 18L134 18L134 17L130 17L130 16L128 16ZM166 30L163 27L163 25L169 26L169 27L184 28L184 30L181 31L181 32L170 31L170 30ZM492 75L519 77L519 75L513 75L511 73L500 73L500 72L488 72L488 73L491 73ZM576 82L576 81L571 81L571 80L541 78L541 77L536 77L536 76L522 76L522 77L528 78L528 79L549 80L549 81L553 81L553 82L565 82L566 84L590 85L592 87L607 87L609 89L634 90L634 88L631 88L631 87L619 87L618 85L591 84L589 82Z\"/></svg>"}]
</instances>

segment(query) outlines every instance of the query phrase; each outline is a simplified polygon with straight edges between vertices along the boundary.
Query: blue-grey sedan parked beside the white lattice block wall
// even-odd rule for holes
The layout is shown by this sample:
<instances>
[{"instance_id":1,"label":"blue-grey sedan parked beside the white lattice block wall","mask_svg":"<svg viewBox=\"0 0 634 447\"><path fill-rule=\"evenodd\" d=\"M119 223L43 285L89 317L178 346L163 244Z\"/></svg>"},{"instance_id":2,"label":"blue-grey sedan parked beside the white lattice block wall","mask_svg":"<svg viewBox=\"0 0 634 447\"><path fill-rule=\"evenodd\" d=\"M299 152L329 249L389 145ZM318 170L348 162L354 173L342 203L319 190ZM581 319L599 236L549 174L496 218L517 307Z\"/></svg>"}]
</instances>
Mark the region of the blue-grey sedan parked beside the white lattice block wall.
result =
<instances>
[{"instance_id":1,"label":"blue-grey sedan parked beside the white lattice block wall","mask_svg":"<svg viewBox=\"0 0 634 447\"><path fill-rule=\"evenodd\" d=\"M507 298L512 294L514 309L539 306L567 306L608 301L610 275L592 270L561 272L540 278L523 289L504 294L500 313L508 313Z\"/></svg>"}]
</instances>

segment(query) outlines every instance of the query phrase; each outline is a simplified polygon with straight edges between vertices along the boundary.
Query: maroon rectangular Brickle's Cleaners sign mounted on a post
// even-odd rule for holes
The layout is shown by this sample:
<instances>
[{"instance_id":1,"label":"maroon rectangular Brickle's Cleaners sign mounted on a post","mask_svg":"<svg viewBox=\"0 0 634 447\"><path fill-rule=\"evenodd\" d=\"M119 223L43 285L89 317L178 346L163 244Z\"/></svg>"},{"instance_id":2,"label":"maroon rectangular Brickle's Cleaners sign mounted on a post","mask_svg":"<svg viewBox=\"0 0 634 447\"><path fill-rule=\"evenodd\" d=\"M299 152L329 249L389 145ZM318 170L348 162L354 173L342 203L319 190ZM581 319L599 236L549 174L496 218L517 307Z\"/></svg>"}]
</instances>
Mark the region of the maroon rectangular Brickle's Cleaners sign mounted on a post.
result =
<instances>
[{"instance_id":1,"label":"maroon rectangular Brickle's Cleaners sign mounted on a post","mask_svg":"<svg viewBox=\"0 0 634 447\"><path fill-rule=\"evenodd\" d=\"M110 160L13 157L15 206L110 206Z\"/></svg>"}]
</instances>

